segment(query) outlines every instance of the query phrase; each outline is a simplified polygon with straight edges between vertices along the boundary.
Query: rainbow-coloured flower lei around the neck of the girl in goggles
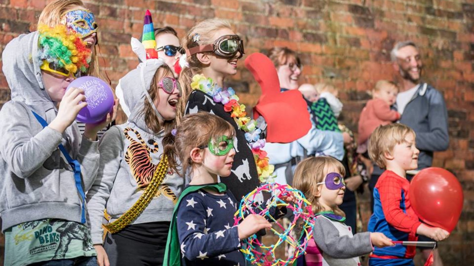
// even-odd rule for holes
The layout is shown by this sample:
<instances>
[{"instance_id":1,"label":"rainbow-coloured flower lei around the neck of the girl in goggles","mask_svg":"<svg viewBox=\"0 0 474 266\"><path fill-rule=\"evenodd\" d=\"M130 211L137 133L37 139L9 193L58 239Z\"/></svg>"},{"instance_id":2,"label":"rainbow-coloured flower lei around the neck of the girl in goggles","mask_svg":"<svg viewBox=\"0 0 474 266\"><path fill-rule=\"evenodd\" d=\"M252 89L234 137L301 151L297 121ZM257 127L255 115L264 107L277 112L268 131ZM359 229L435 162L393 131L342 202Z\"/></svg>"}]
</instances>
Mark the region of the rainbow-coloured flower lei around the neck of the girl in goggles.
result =
<instances>
[{"instance_id":1,"label":"rainbow-coloured flower lei around the neck of the girl in goggles","mask_svg":"<svg viewBox=\"0 0 474 266\"><path fill-rule=\"evenodd\" d=\"M260 138L260 133L265 130L266 124L263 117L257 120L246 116L245 105L238 103L238 96L234 89L222 89L211 78L198 74L192 77L192 89L199 89L214 99L214 102L224 105L224 110L230 112L239 128L245 132L245 138L250 144L254 155L257 173L260 182L268 182L275 177L274 166L268 163L267 152L262 149L265 146L265 139Z\"/></svg>"}]
</instances>

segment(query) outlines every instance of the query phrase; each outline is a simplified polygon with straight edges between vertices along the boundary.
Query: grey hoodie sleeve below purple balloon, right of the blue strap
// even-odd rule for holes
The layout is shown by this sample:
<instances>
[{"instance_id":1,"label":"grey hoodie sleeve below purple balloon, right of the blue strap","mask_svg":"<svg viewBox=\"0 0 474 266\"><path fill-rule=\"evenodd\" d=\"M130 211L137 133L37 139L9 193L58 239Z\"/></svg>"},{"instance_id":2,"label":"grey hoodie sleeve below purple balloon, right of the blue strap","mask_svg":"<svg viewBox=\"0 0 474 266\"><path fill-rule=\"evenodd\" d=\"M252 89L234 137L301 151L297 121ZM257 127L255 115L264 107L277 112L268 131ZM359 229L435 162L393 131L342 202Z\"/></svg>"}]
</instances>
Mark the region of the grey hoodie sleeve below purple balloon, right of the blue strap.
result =
<instances>
[{"instance_id":1,"label":"grey hoodie sleeve below purple balloon, right of the blue strap","mask_svg":"<svg viewBox=\"0 0 474 266\"><path fill-rule=\"evenodd\" d=\"M84 191L87 191L91 188L99 169L99 141L91 142L88 138L82 136L77 160L81 164Z\"/></svg>"}]
</instances>

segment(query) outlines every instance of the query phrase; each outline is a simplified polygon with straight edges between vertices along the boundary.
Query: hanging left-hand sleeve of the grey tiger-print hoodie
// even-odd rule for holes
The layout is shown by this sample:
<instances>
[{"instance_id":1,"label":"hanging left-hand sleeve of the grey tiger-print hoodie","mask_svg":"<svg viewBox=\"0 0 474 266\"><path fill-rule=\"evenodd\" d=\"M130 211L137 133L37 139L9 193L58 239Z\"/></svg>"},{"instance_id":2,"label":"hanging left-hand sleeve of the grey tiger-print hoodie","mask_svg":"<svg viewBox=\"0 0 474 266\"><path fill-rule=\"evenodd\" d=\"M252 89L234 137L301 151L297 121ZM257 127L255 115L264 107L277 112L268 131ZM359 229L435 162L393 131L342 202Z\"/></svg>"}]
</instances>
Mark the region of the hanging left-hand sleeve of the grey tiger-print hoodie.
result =
<instances>
[{"instance_id":1,"label":"hanging left-hand sleeve of the grey tiger-print hoodie","mask_svg":"<svg viewBox=\"0 0 474 266\"><path fill-rule=\"evenodd\" d=\"M102 244L102 217L110 190L114 185L120 167L123 153L121 132L117 127L111 127L100 139L100 161L97 178L87 193L87 208L91 227L93 244Z\"/></svg>"}]
</instances>

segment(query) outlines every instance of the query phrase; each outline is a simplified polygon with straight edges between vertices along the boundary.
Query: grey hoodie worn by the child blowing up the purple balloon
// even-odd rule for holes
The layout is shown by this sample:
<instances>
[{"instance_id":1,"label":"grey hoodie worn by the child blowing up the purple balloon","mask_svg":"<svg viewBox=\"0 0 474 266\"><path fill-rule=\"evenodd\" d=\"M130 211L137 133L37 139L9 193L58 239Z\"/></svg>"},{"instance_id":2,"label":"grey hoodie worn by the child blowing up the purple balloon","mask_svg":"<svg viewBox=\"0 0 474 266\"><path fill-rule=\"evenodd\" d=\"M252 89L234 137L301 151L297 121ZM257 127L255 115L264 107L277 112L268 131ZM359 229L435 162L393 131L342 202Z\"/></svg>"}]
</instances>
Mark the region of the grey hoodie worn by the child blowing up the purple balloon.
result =
<instances>
[{"instance_id":1,"label":"grey hoodie worn by the child blowing up the purple balloon","mask_svg":"<svg viewBox=\"0 0 474 266\"><path fill-rule=\"evenodd\" d=\"M22 222L57 218L81 222L81 199L74 173L61 151L81 163L87 190L99 166L98 142L82 138L75 122L63 134L43 129L31 112L49 124L57 109L46 92L36 58L38 32L13 39L2 53L11 100L0 110L0 216L2 230Z\"/></svg>"}]
</instances>

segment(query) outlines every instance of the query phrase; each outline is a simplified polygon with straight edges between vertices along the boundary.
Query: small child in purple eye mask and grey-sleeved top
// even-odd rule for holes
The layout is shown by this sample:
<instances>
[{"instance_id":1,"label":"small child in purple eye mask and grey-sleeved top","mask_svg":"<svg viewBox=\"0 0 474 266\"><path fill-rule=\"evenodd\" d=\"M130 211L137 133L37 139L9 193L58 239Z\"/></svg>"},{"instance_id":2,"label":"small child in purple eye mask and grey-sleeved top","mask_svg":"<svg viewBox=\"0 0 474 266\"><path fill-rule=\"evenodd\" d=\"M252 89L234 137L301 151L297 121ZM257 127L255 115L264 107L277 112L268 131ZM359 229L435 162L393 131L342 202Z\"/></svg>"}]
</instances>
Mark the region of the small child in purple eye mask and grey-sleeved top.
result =
<instances>
[{"instance_id":1,"label":"small child in purple eye mask and grey-sleeved top","mask_svg":"<svg viewBox=\"0 0 474 266\"><path fill-rule=\"evenodd\" d=\"M345 168L336 159L327 156L310 157L296 167L293 185L301 190L312 204L316 221L313 239L298 266L360 265L358 256L370 253L373 246L387 247L393 243L383 233L352 234L338 208L346 191Z\"/></svg>"}]
</instances>

